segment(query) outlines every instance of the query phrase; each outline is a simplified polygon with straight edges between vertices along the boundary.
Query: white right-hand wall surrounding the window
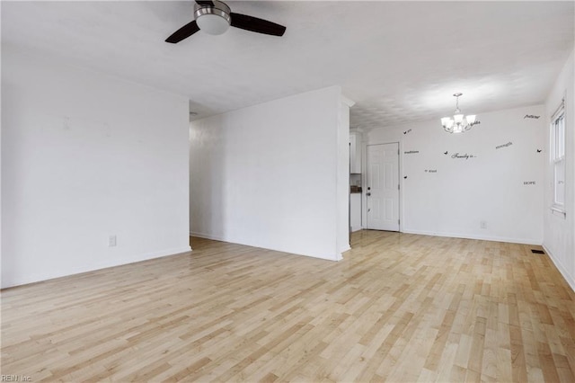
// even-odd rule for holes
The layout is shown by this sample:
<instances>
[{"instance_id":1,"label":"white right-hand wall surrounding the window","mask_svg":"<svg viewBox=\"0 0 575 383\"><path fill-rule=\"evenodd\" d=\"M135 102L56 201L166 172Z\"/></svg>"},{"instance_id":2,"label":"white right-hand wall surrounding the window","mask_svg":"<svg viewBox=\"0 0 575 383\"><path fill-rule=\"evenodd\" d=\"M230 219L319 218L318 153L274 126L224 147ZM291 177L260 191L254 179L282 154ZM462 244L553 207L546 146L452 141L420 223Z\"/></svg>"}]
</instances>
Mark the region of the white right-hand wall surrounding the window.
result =
<instances>
[{"instance_id":1,"label":"white right-hand wall surrounding the window","mask_svg":"<svg viewBox=\"0 0 575 383\"><path fill-rule=\"evenodd\" d=\"M553 90L545 102L546 119L544 120L547 149L545 156L544 188L544 248L573 290L575 290L575 219L573 218L573 213L575 213L574 66L575 62L573 60L573 53L571 52L570 58L565 63L560 76L558 76L555 85L553 85ZM566 136L565 209L567 215L565 217L553 214L550 209L553 203L553 165L549 156L549 123L553 117L553 112L557 109L563 97L565 98Z\"/></svg>"}]
</instances>

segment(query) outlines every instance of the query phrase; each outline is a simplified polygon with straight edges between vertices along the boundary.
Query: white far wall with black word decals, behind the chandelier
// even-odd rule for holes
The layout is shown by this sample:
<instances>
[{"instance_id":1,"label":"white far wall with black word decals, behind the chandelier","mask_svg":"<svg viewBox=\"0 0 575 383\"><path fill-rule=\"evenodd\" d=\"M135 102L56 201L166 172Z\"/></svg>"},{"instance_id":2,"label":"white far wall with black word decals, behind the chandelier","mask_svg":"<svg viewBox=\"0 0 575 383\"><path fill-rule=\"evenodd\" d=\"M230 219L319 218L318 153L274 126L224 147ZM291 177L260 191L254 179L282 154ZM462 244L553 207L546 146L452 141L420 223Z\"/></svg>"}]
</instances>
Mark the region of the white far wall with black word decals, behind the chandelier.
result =
<instances>
[{"instance_id":1,"label":"white far wall with black word decals, behind the chandelier","mask_svg":"<svg viewBox=\"0 0 575 383\"><path fill-rule=\"evenodd\" d=\"M540 245L544 108L481 113L478 120L459 135L438 119L368 132L368 144L400 142L401 230Z\"/></svg>"}]
</instances>

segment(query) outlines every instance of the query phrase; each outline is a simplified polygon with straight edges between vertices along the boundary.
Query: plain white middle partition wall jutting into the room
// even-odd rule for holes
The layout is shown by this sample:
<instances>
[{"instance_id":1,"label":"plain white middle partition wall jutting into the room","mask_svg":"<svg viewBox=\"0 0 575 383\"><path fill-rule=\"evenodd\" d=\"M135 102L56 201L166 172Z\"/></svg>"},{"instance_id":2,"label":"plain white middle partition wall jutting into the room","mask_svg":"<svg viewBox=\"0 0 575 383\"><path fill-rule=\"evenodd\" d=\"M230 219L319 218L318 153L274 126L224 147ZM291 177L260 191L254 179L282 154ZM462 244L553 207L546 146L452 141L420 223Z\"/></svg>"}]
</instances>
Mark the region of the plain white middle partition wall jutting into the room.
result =
<instances>
[{"instance_id":1,"label":"plain white middle partition wall jutting into the room","mask_svg":"<svg viewBox=\"0 0 575 383\"><path fill-rule=\"evenodd\" d=\"M333 86L192 122L191 234L340 259L340 99Z\"/></svg>"}]
</instances>

